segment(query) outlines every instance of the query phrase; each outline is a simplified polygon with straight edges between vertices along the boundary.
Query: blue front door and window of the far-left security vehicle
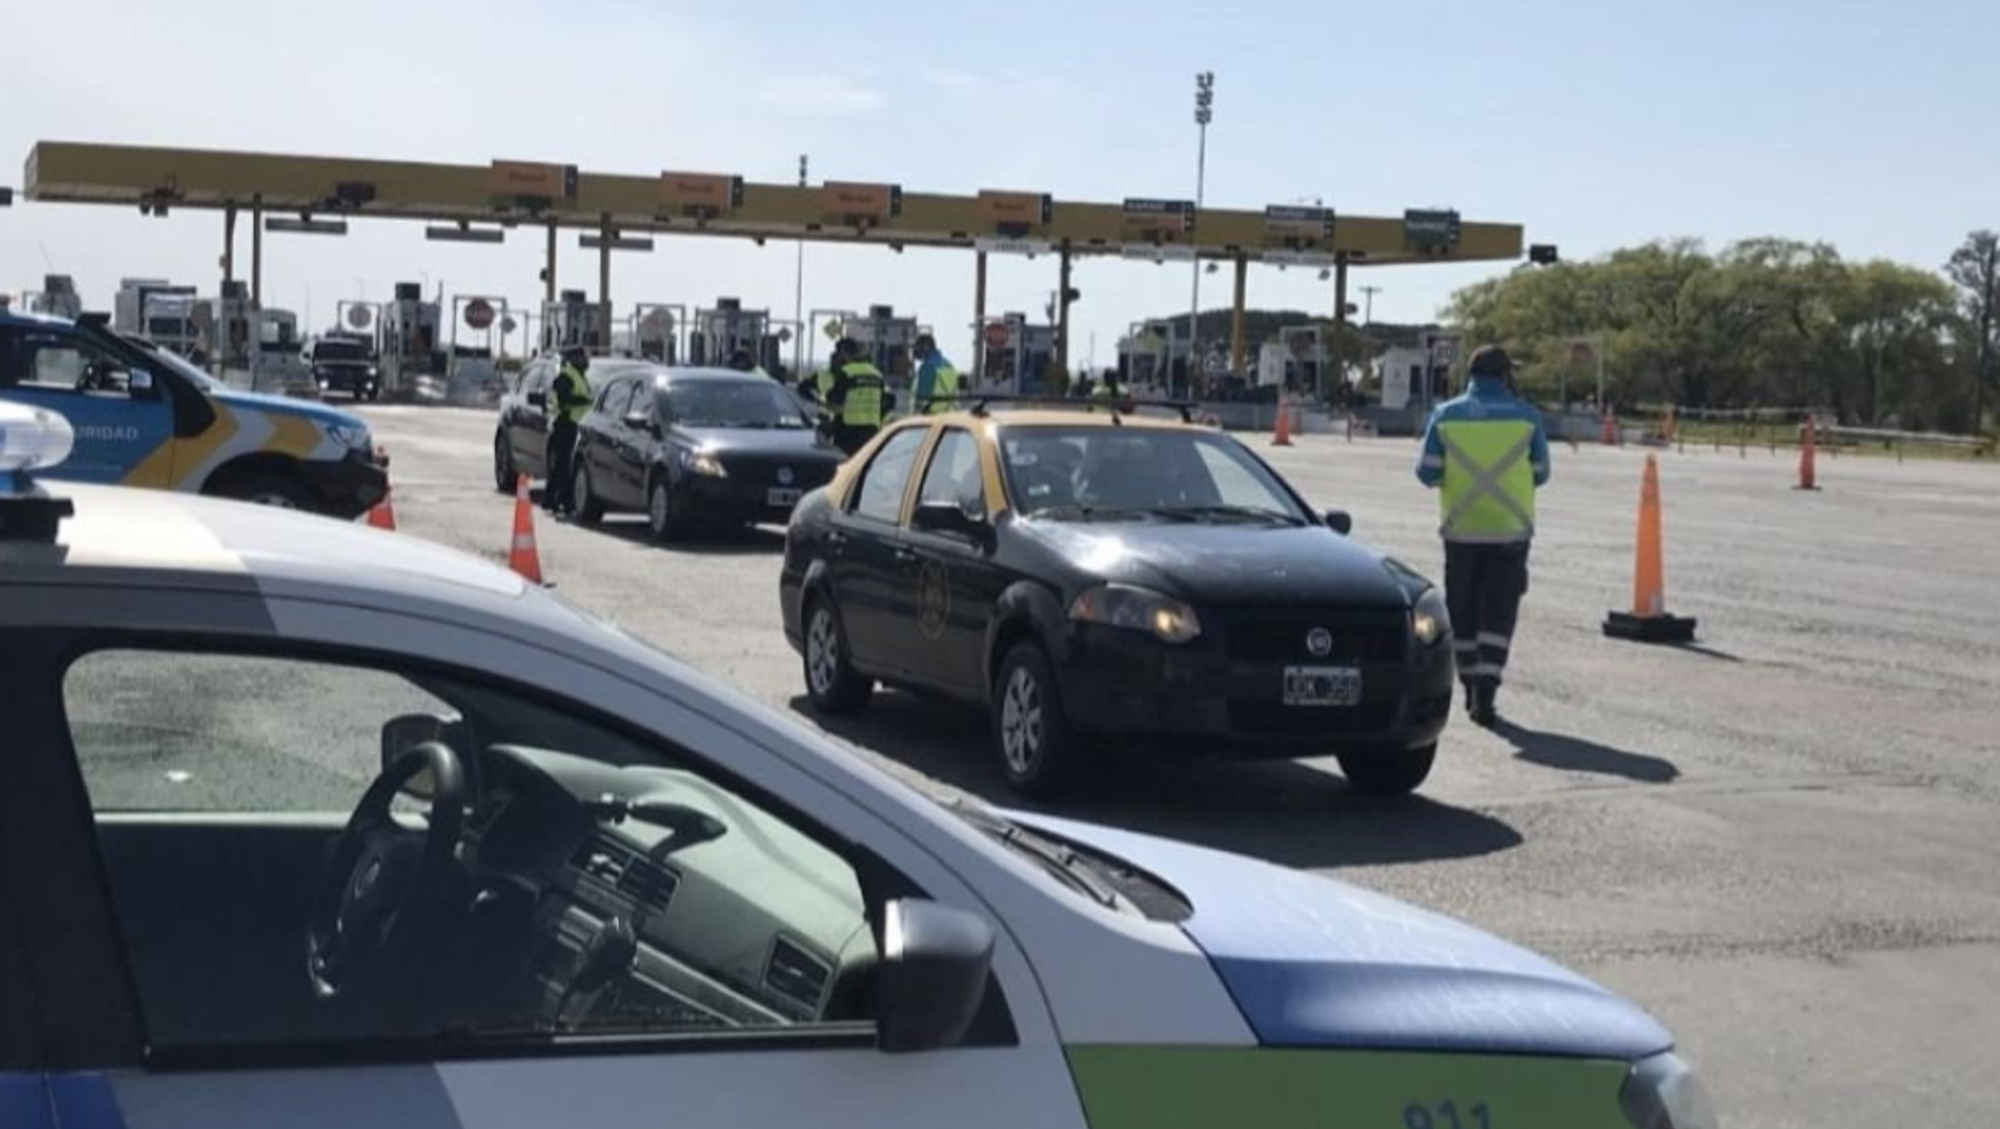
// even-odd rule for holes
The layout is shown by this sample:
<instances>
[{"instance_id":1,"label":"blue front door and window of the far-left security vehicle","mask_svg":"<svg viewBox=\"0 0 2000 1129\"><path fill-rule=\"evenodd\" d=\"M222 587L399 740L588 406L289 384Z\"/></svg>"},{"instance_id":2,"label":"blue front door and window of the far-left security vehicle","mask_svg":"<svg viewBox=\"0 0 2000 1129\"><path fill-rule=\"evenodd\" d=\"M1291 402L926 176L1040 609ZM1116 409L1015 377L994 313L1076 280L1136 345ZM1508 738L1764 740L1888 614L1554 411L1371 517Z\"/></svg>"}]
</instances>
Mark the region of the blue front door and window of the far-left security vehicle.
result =
<instances>
[{"instance_id":1,"label":"blue front door and window of the far-left security vehicle","mask_svg":"<svg viewBox=\"0 0 2000 1129\"><path fill-rule=\"evenodd\" d=\"M170 486L174 406L164 382L64 324L0 326L0 396L70 420L76 446L52 478Z\"/></svg>"}]
</instances>

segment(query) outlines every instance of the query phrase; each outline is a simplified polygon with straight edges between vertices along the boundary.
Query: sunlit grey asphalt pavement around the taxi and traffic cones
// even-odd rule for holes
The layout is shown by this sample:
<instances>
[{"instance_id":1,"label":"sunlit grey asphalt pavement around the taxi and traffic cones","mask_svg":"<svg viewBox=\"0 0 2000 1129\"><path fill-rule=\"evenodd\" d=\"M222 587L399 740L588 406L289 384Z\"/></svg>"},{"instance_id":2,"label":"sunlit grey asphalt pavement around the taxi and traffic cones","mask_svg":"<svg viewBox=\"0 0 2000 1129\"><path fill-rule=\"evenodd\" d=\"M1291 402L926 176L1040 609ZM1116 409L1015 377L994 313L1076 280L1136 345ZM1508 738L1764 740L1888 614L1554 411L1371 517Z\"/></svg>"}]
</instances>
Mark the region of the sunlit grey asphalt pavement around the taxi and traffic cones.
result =
<instances>
[{"instance_id":1,"label":"sunlit grey asphalt pavement around the taxi and traffic cones","mask_svg":"<svg viewBox=\"0 0 2000 1129\"><path fill-rule=\"evenodd\" d=\"M368 406L404 532L504 556L490 412ZM1440 577L1410 440L1242 436L1354 536ZM1676 1031L1732 1127L2000 1109L2000 466L1660 452L1668 607L1700 643L1604 639L1632 599L1644 452L1556 446L1494 733L1454 719L1406 803L1326 763L1124 767L1066 815L1336 875L1472 921ZM654 546L542 520L556 593L852 743L1018 805L976 713L880 695L816 719L778 617L782 534Z\"/></svg>"}]
</instances>

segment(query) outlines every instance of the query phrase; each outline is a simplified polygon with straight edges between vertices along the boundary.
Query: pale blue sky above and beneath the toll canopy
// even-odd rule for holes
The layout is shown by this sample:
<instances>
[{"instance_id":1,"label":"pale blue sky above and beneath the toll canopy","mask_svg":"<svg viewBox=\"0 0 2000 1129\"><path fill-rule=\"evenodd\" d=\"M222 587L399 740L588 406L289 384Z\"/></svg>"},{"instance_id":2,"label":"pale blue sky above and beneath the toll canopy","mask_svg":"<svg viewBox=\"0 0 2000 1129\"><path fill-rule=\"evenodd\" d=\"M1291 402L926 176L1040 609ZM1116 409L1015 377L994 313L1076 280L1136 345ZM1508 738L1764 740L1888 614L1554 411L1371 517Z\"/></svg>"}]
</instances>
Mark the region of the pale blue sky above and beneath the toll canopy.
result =
<instances>
[{"instance_id":1,"label":"pale blue sky above and beneath the toll canopy","mask_svg":"<svg viewBox=\"0 0 2000 1129\"><path fill-rule=\"evenodd\" d=\"M1834 242L1938 266L2000 226L2000 4L1296 0L68 0L14 6L0 184L38 138L486 162L732 170L1188 196L1192 76L1216 72L1208 202L1446 204L1528 224L1568 256L1660 236ZM0 210L0 290L46 262L108 306L122 274L214 290L220 220L74 206ZM426 244L414 224L266 238L266 300L388 284L536 300L538 246ZM594 256L564 252L568 284ZM662 240L620 256L614 300L792 310L790 246ZM1378 318L1432 316L1494 266L1384 268ZM1204 304L1228 276L1204 280ZM1188 304L1184 266L1086 262L1078 360ZM990 308L1038 312L1048 258L996 260ZM1256 268L1252 304L1328 308L1312 274ZM966 254L812 248L806 306L892 302L964 352Z\"/></svg>"}]
</instances>

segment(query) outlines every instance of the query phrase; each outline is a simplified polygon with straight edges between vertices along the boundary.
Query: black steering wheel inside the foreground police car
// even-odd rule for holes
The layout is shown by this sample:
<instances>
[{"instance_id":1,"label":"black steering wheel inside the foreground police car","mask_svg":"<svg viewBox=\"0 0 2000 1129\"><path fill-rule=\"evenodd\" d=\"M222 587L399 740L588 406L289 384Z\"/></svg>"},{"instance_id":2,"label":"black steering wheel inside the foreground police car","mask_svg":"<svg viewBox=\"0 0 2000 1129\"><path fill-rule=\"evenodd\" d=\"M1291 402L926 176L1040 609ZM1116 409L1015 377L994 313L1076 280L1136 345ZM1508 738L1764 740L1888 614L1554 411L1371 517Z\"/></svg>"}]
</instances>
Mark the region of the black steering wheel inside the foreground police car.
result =
<instances>
[{"instance_id":1,"label":"black steering wheel inside the foreground police car","mask_svg":"<svg viewBox=\"0 0 2000 1129\"><path fill-rule=\"evenodd\" d=\"M390 815L402 789L430 775L430 825L412 831ZM412 931L412 911L434 905L456 867L466 817L466 775L442 741L402 751L368 785L312 895L306 975L320 999L334 999L378 965Z\"/></svg>"}]
</instances>

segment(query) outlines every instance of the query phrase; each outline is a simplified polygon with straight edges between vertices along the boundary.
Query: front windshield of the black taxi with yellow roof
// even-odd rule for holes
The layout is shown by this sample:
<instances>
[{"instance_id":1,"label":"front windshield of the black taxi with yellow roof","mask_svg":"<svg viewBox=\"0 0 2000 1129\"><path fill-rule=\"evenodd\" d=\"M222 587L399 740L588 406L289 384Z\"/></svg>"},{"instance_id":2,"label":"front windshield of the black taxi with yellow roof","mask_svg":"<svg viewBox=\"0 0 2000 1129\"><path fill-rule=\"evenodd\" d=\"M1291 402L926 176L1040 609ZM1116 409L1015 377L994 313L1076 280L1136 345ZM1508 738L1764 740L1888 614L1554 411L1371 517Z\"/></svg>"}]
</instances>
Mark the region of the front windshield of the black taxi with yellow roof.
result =
<instances>
[{"instance_id":1,"label":"front windshield of the black taxi with yellow roof","mask_svg":"<svg viewBox=\"0 0 2000 1129\"><path fill-rule=\"evenodd\" d=\"M1028 516L1306 522L1270 468L1212 430L1010 426L1000 460Z\"/></svg>"}]
</instances>

